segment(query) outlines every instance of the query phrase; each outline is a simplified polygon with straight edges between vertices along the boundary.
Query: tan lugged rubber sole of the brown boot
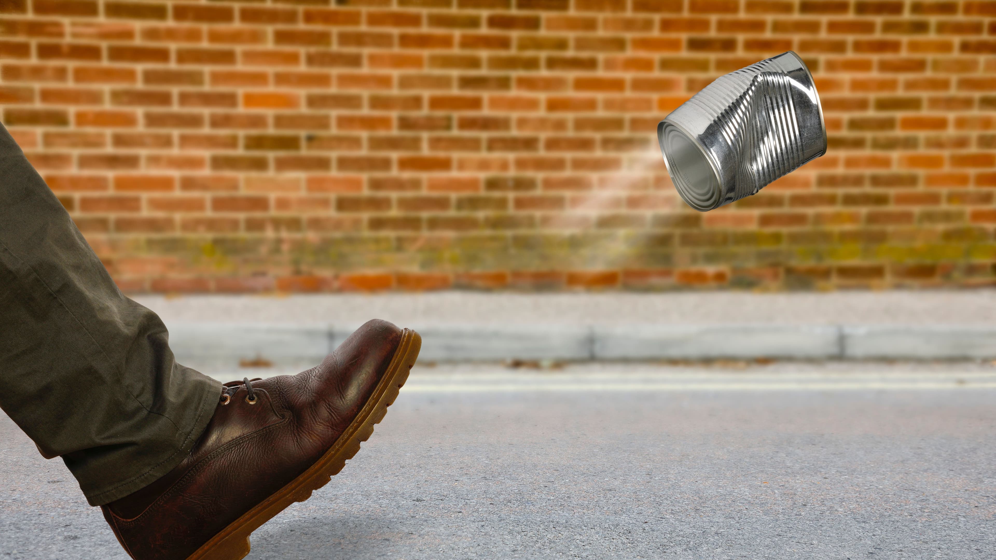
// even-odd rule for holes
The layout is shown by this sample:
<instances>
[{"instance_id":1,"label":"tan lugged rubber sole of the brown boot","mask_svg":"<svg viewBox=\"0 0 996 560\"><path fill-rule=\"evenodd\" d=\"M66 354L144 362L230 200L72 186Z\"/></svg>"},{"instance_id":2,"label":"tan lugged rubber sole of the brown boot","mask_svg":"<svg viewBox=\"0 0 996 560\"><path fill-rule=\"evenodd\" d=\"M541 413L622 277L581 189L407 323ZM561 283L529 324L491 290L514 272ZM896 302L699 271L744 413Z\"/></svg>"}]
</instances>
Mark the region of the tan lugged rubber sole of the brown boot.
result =
<instances>
[{"instance_id":1,"label":"tan lugged rubber sole of the brown boot","mask_svg":"<svg viewBox=\"0 0 996 560\"><path fill-rule=\"evenodd\" d=\"M322 458L276 493L260 502L241 517L211 537L187 560L240 560L249 554L249 535L263 523L272 519L287 506L296 501L305 501L312 492L329 483L333 476L346 465L360 450L361 441L366 441L373 433L373 424L383 420L387 407L397 399L398 390L408 379L408 372L415 365L418 351L422 347L422 337L418 333L404 329L401 342L394 351L394 357L387 366L373 395L364 405L346 431L329 448Z\"/></svg>"}]
</instances>

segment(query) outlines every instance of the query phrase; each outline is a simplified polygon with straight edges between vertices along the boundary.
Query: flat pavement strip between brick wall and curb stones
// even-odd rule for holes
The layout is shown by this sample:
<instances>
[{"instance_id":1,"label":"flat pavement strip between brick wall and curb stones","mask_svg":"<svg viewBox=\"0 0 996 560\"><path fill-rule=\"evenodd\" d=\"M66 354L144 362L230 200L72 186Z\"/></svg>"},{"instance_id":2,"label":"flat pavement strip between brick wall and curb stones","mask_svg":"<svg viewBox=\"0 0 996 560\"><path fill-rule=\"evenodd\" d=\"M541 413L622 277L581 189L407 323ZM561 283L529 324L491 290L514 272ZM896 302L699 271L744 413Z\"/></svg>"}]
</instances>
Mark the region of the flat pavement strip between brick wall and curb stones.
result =
<instances>
[{"instance_id":1,"label":"flat pavement strip between brick wall and curb stones","mask_svg":"<svg viewBox=\"0 0 996 560\"><path fill-rule=\"evenodd\" d=\"M842 292L424 292L134 295L170 322L598 325L996 325L996 290Z\"/></svg>"}]
</instances>

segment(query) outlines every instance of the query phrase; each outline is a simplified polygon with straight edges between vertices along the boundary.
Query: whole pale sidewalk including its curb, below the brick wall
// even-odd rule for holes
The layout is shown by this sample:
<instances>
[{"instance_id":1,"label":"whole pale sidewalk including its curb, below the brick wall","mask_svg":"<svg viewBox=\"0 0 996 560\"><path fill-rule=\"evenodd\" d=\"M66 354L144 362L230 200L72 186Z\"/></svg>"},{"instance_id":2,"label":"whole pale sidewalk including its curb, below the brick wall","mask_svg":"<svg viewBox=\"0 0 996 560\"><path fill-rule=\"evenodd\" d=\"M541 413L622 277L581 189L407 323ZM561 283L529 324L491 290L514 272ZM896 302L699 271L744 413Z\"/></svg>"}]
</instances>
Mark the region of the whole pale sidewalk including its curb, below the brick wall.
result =
<instances>
[{"instance_id":1,"label":"whole pale sidewalk including its curb, below the brick wall","mask_svg":"<svg viewBox=\"0 0 996 560\"><path fill-rule=\"evenodd\" d=\"M136 296L178 360L320 361L365 321L422 334L421 361L991 359L996 291Z\"/></svg>"}]
</instances>

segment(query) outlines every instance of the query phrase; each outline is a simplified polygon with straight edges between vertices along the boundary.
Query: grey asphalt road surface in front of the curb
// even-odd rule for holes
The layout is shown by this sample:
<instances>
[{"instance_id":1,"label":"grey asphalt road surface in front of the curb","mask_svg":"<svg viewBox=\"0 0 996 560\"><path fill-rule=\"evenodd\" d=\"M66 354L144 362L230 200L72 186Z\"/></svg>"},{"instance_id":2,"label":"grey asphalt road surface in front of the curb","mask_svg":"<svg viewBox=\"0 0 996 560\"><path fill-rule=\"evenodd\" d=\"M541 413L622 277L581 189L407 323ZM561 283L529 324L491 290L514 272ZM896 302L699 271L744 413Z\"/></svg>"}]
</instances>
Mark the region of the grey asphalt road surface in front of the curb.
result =
<instances>
[{"instance_id":1,"label":"grey asphalt road surface in front of the curb","mask_svg":"<svg viewBox=\"0 0 996 560\"><path fill-rule=\"evenodd\" d=\"M996 557L996 368L835 368L416 370L248 558ZM126 556L0 416L4 558Z\"/></svg>"}]
</instances>

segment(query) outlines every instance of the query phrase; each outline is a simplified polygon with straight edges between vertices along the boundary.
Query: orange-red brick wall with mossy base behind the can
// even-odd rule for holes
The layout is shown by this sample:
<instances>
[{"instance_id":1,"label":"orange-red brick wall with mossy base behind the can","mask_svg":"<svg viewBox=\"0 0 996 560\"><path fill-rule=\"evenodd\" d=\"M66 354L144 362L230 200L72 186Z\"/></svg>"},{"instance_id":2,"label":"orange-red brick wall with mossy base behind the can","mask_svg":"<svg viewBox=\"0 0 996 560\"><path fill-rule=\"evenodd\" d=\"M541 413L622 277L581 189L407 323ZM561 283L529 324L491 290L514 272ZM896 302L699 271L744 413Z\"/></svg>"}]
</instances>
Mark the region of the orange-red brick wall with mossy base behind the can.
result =
<instances>
[{"instance_id":1,"label":"orange-red brick wall with mossy base behind the can","mask_svg":"<svg viewBox=\"0 0 996 560\"><path fill-rule=\"evenodd\" d=\"M656 123L789 49L830 152L685 207ZM127 290L994 279L996 2L0 0L0 58Z\"/></svg>"}]
</instances>

